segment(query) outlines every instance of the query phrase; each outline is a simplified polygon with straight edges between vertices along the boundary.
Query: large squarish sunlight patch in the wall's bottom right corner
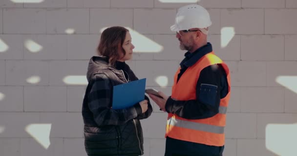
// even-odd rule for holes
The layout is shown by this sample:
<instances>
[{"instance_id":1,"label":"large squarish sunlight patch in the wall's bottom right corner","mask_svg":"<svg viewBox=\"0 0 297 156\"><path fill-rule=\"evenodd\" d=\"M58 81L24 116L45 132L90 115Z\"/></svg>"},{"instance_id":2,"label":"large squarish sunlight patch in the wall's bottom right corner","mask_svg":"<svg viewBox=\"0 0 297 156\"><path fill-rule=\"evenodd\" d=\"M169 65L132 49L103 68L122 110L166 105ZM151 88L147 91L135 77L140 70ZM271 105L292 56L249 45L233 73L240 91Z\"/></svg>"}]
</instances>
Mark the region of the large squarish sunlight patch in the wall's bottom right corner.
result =
<instances>
[{"instance_id":1,"label":"large squarish sunlight patch in the wall's bottom right corner","mask_svg":"<svg viewBox=\"0 0 297 156\"><path fill-rule=\"evenodd\" d=\"M297 123L268 124L266 148L278 156L293 156L296 153Z\"/></svg>"}]
</instances>

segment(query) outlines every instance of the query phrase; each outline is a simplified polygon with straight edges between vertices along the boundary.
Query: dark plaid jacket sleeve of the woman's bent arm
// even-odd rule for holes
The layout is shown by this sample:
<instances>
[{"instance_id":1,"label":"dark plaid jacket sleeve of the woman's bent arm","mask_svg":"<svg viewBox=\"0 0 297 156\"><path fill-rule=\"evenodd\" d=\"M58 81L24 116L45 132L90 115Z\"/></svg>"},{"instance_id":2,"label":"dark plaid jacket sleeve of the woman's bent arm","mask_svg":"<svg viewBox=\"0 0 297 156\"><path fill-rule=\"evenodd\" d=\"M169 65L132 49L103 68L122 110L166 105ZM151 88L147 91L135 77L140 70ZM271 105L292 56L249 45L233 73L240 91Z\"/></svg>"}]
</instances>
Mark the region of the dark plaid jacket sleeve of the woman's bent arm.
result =
<instances>
[{"instance_id":1,"label":"dark plaid jacket sleeve of the woman's bent arm","mask_svg":"<svg viewBox=\"0 0 297 156\"><path fill-rule=\"evenodd\" d=\"M98 74L92 80L93 85L88 95L88 107L98 126L122 125L142 113L135 105L127 109L111 109L112 90L109 79L104 74Z\"/></svg>"}]
</instances>

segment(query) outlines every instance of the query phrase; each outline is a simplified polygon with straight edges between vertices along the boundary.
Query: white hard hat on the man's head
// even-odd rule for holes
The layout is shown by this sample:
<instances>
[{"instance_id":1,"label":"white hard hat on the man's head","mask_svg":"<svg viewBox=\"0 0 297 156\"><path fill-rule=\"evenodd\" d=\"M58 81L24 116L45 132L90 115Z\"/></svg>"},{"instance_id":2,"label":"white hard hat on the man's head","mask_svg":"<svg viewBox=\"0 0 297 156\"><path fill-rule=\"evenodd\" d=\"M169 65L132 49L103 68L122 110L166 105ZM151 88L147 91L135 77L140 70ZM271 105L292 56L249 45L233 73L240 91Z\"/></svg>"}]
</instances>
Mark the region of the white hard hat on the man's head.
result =
<instances>
[{"instance_id":1,"label":"white hard hat on the man's head","mask_svg":"<svg viewBox=\"0 0 297 156\"><path fill-rule=\"evenodd\" d=\"M175 24L170 27L171 31L188 30L191 28L207 28L212 25L208 11L197 4L183 6L178 9Z\"/></svg>"}]
</instances>

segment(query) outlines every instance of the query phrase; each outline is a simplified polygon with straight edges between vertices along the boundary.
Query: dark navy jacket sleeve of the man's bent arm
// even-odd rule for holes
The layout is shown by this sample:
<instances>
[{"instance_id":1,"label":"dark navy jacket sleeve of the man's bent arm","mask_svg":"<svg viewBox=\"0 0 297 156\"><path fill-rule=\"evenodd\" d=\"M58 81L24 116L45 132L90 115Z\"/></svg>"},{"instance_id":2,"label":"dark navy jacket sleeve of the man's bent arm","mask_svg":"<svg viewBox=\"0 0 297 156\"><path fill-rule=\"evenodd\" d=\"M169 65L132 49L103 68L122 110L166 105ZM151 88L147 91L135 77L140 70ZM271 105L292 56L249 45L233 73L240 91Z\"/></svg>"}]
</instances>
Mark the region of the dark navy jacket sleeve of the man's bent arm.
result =
<instances>
[{"instance_id":1,"label":"dark navy jacket sleeve of the man's bent arm","mask_svg":"<svg viewBox=\"0 0 297 156\"><path fill-rule=\"evenodd\" d=\"M202 119L213 117L219 111L221 98L221 81L226 81L220 65L211 65L200 72L196 85L196 99L179 101L168 98L165 108L168 113L187 119ZM226 80L225 80L226 79ZM228 82L224 83L227 85Z\"/></svg>"}]
</instances>

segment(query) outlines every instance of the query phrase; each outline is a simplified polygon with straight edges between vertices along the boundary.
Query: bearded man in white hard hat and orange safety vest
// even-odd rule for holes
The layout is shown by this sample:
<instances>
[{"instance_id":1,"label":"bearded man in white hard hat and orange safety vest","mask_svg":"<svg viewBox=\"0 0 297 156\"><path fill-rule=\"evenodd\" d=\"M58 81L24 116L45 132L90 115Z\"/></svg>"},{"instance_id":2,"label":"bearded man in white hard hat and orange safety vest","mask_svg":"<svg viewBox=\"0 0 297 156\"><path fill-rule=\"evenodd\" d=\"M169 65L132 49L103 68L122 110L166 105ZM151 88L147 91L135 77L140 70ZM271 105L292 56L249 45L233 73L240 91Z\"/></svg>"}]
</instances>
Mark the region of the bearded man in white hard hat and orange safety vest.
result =
<instances>
[{"instance_id":1,"label":"bearded man in white hard hat and orange safety vest","mask_svg":"<svg viewBox=\"0 0 297 156\"><path fill-rule=\"evenodd\" d=\"M165 156L222 156L230 73L207 42L211 24L208 11L192 4L178 10L170 27L180 49L188 52L174 76L171 97L149 94L168 113Z\"/></svg>"}]
</instances>

